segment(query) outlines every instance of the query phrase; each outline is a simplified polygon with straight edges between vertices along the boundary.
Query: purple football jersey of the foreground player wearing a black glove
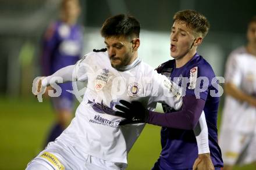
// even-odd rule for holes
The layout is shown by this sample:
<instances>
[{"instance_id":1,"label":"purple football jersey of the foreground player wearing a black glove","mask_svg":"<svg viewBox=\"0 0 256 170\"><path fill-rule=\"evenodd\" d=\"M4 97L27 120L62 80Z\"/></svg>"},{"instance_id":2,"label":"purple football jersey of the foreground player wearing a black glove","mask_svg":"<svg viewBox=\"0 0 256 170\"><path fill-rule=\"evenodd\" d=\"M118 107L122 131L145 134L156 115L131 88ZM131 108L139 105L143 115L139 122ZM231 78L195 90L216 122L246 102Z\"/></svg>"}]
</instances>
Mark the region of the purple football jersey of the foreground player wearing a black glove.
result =
<instances>
[{"instance_id":1,"label":"purple football jersey of the foreground player wearing a black glove","mask_svg":"<svg viewBox=\"0 0 256 170\"><path fill-rule=\"evenodd\" d=\"M215 78L214 71L210 64L197 53L183 67L176 68L175 60L169 60L157 68L158 73L170 77L172 81L182 85L183 78L190 78L186 86L186 96L198 96L205 100L204 113L207 120L209 134L209 149L211 151L212 162L215 167L223 167L221 149L218 145L217 136L217 114L219 106L219 97L209 95L211 90L218 92L215 85L212 85L212 79ZM205 86L199 84L205 91L198 92L195 81L198 77L207 78L209 84ZM162 104L165 113L172 112L166 104ZM182 130L175 128L162 127L161 129L162 151L153 169L188 169L192 168L195 159L198 157L197 141L194 132L191 130Z\"/></svg>"}]
</instances>

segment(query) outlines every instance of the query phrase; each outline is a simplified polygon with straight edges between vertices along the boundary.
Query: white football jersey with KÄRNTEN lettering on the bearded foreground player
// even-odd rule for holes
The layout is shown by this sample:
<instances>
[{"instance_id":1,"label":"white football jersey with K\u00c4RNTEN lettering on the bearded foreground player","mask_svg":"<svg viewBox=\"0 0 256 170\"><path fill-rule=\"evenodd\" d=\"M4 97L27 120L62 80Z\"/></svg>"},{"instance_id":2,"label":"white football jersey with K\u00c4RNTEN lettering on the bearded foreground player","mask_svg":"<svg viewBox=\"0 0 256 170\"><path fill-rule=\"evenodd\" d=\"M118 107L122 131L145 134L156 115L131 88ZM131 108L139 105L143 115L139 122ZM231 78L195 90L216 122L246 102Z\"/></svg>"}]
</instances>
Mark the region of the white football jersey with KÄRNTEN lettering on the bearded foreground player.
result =
<instances>
[{"instance_id":1,"label":"white football jersey with K\u00c4RNTEN lettering on the bearded foreground player","mask_svg":"<svg viewBox=\"0 0 256 170\"><path fill-rule=\"evenodd\" d=\"M149 110L154 110L157 102L166 103L175 110L182 106L182 88L139 58L118 71L111 66L107 52L91 52L75 66L62 68L59 73L69 75L66 72L70 69L73 76L70 74L64 81L87 81L87 89L71 124L48 150L62 148L63 153L76 153L81 160L91 155L127 164L127 153L145 124L119 126L123 118L113 115L119 100L140 101ZM57 72L47 78L58 76ZM201 127L200 135L196 136L198 152L209 153L204 113L198 124ZM69 160L69 165L75 167L76 162Z\"/></svg>"}]
</instances>

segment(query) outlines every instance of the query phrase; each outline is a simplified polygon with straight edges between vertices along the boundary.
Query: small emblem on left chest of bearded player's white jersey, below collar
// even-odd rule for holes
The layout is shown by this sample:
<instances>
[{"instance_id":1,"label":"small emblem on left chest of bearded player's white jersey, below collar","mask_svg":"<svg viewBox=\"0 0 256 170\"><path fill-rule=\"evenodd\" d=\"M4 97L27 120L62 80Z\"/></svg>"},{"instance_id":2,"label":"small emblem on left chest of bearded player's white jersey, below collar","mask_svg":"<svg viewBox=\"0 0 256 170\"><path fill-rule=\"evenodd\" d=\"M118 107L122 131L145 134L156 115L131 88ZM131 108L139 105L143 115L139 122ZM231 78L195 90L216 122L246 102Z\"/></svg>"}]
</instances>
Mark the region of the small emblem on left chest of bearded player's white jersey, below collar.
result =
<instances>
[{"instance_id":1,"label":"small emblem on left chest of bearded player's white jersey, below collar","mask_svg":"<svg viewBox=\"0 0 256 170\"><path fill-rule=\"evenodd\" d=\"M96 92L101 91L104 88L109 77L109 70L105 68L102 69L101 74L97 75L97 78L94 81L94 89Z\"/></svg>"}]
</instances>

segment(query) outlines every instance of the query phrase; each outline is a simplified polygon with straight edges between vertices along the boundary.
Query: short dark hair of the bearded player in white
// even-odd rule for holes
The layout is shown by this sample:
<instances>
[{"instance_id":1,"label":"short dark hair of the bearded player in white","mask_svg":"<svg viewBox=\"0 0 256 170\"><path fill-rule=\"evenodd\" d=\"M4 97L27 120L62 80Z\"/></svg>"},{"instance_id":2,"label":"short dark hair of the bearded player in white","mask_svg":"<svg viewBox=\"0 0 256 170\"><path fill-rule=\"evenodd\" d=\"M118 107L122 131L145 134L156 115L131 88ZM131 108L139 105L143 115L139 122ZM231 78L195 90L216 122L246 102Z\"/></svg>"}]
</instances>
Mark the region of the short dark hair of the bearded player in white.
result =
<instances>
[{"instance_id":1,"label":"short dark hair of the bearded player in white","mask_svg":"<svg viewBox=\"0 0 256 170\"><path fill-rule=\"evenodd\" d=\"M101 27L102 37L140 37L140 23L130 15L116 15L105 20Z\"/></svg>"}]
</instances>

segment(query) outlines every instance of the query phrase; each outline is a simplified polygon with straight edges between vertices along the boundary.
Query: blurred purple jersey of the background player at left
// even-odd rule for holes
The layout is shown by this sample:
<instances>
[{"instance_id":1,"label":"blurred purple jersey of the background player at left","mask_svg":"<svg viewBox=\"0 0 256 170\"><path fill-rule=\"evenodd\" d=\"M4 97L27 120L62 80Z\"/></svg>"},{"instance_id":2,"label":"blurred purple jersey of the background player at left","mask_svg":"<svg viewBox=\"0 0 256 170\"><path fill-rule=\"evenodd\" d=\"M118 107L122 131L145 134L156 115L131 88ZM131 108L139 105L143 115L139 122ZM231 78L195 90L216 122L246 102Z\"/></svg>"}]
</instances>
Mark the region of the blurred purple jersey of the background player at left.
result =
<instances>
[{"instance_id":1,"label":"blurred purple jersey of the background player at left","mask_svg":"<svg viewBox=\"0 0 256 170\"><path fill-rule=\"evenodd\" d=\"M57 70L75 64L81 56L83 48L83 31L81 26L69 26L62 21L52 23L44 34L42 42L41 67L42 74L48 76ZM72 99L71 83L60 84L61 97Z\"/></svg>"}]
</instances>

